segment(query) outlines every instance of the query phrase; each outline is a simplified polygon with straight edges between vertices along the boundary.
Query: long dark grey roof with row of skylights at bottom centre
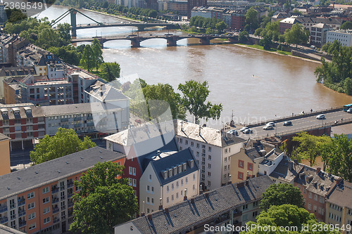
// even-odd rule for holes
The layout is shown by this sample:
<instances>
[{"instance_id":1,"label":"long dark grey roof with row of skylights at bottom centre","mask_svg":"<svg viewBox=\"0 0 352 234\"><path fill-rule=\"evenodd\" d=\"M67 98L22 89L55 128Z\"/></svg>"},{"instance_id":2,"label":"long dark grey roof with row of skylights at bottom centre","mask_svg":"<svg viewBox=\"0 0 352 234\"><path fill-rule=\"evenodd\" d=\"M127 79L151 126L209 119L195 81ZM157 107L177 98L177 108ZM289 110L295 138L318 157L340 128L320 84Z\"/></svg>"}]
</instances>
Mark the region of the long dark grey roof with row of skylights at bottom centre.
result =
<instances>
[{"instance_id":1,"label":"long dark grey roof with row of skylights at bottom centre","mask_svg":"<svg viewBox=\"0 0 352 234\"><path fill-rule=\"evenodd\" d=\"M151 213L150 216L142 216L122 225L133 223L140 233L184 233L189 228L211 221L224 212L260 200L263 192L271 184L272 180L269 176L251 178L249 184L243 187L237 188L236 184L223 186L208 192L208 197L203 193L194 197L194 202L186 200L169 207L168 212L165 209L159 210ZM122 234L118 228L119 226L115 226L115 233ZM131 230L130 233L135 231ZM129 234L129 232L125 231L123 234Z\"/></svg>"}]
</instances>

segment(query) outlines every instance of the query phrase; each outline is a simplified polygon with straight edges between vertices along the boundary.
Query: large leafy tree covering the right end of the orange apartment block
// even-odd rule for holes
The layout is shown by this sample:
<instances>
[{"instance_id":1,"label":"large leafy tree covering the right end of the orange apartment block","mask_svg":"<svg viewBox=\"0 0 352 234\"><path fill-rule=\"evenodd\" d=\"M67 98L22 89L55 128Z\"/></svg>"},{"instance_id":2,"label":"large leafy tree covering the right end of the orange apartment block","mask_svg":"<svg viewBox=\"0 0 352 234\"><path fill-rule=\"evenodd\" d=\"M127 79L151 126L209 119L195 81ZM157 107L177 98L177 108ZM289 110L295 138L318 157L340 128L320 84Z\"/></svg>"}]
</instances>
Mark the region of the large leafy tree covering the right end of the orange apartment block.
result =
<instances>
[{"instance_id":1,"label":"large leafy tree covering the right end of the orange apartment block","mask_svg":"<svg viewBox=\"0 0 352 234\"><path fill-rule=\"evenodd\" d=\"M137 197L121 178L123 166L115 162L99 162L83 173L75 186L81 188L73 197L74 233L113 233L113 227L132 219L138 212Z\"/></svg>"}]
</instances>

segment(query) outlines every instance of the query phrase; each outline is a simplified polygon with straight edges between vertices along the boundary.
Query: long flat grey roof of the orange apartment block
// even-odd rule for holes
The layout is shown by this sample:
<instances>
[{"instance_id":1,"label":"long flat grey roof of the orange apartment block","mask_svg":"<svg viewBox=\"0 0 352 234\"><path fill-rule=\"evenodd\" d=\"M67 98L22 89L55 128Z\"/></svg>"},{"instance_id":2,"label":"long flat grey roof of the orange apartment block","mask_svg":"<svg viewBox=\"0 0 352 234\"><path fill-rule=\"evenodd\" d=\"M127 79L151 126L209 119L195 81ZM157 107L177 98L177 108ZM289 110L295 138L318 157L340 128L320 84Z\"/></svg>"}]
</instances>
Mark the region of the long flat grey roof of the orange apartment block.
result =
<instances>
[{"instance_id":1,"label":"long flat grey roof of the orange apartment block","mask_svg":"<svg viewBox=\"0 0 352 234\"><path fill-rule=\"evenodd\" d=\"M120 152L113 152L96 146L5 174L0 176L0 200L86 171L98 162L114 161L122 157L125 157L125 155Z\"/></svg>"}]
</instances>

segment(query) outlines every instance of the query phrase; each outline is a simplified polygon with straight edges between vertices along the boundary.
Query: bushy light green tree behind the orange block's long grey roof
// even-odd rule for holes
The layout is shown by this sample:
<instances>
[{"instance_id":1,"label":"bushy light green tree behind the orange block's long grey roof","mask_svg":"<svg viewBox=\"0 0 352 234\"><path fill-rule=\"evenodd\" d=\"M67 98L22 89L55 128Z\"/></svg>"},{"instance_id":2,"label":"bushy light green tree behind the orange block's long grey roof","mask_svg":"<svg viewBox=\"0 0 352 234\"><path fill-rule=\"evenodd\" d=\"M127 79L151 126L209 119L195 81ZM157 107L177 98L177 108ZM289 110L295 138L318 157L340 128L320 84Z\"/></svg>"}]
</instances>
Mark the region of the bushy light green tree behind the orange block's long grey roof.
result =
<instances>
[{"instance_id":1,"label":"bushy light green tree behind the orange block's long grey roof","mask_svg":"<svg viewBox=\"0 0 352 234\"><path fill-rule=\"evenodd\" d=\"M58 128L55 136L45 135L39 140L34 150L30 152L30 160L34 164L40 164L94 146L96 143L92 142L89 136L85 136L81 141L75 130Z\"/></svg>"}]
</instances>

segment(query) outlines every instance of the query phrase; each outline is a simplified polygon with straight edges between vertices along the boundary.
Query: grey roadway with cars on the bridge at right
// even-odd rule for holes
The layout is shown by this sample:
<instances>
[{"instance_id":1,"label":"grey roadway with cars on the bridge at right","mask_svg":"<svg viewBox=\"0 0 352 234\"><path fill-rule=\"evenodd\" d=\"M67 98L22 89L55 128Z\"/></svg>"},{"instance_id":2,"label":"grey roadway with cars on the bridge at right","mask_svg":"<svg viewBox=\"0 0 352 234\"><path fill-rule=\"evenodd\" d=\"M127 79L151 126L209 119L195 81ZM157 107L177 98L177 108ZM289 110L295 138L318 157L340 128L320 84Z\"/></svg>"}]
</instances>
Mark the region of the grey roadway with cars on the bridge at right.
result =
<instances>
[{"instance_id":1,"label":"grey roadway with cars on the bridge at right","mask_svg":"<svg viewBox=\"0 0 352 234\"><path fill-rule=\"evenodd\" d=\"M325 113L325 119L317 119L316 115L307 116L299 119L290 119L292 122L291 126L284 126L284 121L275 122L274 129L264 130L263 125L252 127L251 130L253 133L251 134L242 134L239 132L239 137L241 138L263 138L265 136L274 136L277 135L285 135L290 134L294 131L304 131L308 129L316 129L318 127L323 126L331 126L337 120L338 124L341 124L341 119L344 122L352 122L352 114L348 112L344 112L343 110L339 110L337 112L329 112Z\"/></svg>"}]
</instances>

